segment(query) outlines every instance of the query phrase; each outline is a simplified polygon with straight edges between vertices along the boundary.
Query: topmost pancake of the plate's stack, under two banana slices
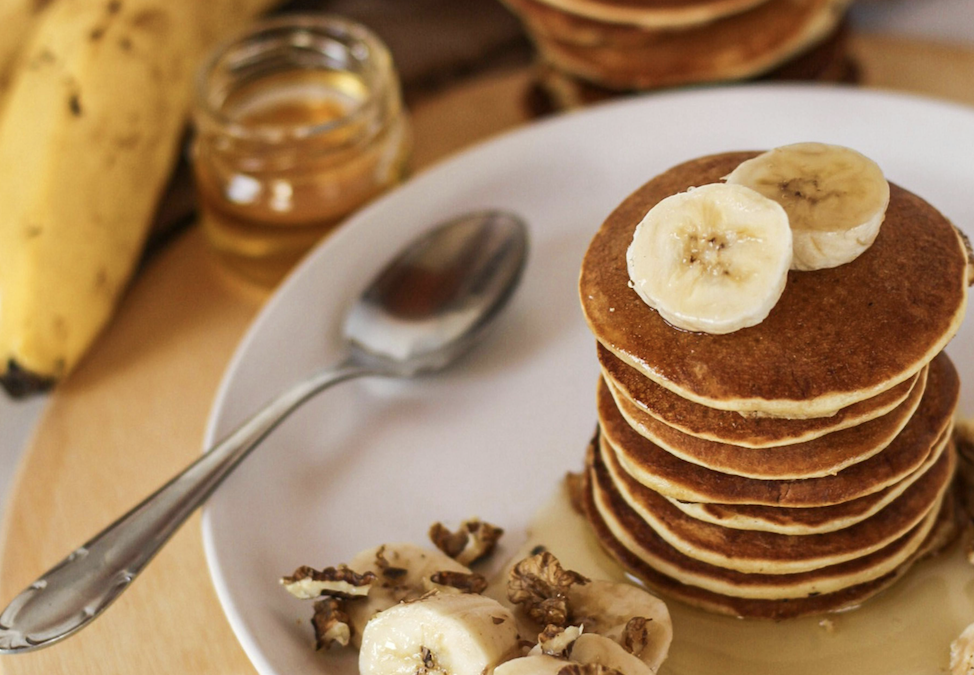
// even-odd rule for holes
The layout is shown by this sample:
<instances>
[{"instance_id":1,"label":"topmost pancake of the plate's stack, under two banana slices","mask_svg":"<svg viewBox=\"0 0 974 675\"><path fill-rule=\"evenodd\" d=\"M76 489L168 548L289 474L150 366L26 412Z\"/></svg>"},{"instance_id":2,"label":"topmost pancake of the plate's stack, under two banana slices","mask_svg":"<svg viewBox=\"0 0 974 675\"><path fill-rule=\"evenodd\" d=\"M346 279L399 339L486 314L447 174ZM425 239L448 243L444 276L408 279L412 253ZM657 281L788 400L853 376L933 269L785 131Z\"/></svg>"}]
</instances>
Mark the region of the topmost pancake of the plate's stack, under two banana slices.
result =
<instances>
[{"instance_id":1,"label":"topmost pancake of the plate's stack, under two banana slices","mask_svg":"<svg viewBox=\"0 0 974 675\"><path fill-rule=\"evenodd\" d=\"M763 322L726 335L676 329L629 288L633 231L661 199L717 182L756 154L692 160L627 198L585 254L582 309L609 351L684 398L778 417L827 416L909 378L953 337L967 303L966 251L943 215L891 185L873 245L833 269L790 272Z\"/></svg>"}]
</instances>

